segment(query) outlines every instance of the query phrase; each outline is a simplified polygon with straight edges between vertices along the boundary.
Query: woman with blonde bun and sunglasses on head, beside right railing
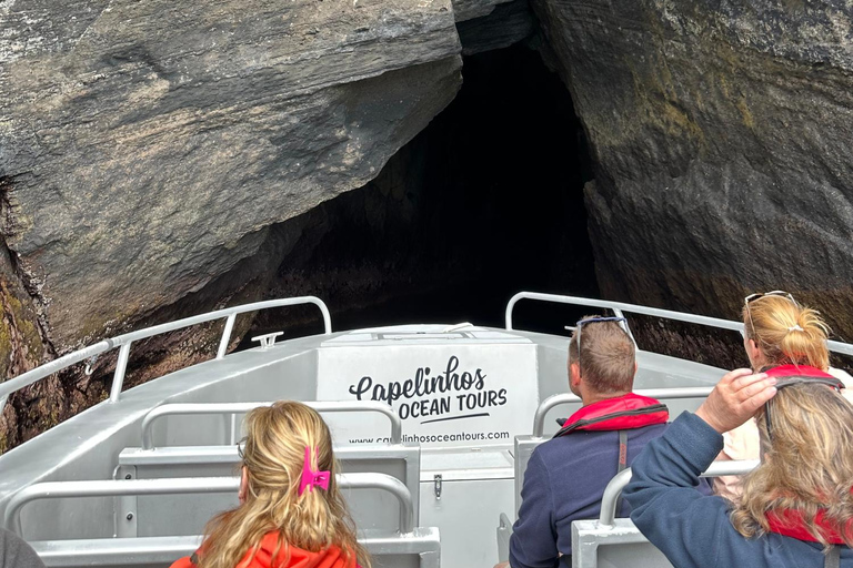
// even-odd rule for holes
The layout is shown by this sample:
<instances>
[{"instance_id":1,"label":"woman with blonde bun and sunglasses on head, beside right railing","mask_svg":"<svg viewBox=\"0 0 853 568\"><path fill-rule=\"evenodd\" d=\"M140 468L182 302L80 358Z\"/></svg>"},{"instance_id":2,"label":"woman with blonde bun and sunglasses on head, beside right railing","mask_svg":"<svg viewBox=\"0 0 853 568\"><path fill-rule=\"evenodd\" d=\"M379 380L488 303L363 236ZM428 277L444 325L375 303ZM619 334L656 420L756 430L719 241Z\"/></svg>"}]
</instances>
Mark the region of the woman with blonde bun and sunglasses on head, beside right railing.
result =
<instances>
[{"instance_id":1,"label":"woman with blonde bun and sunglasses on head, beside right railing","mask_svg":"<svg viewBox=\"0 0 853 568\"><path fill-rule=\"evenodd\" d=\"M799 304L787 292L751 294L743 302L743 347L752 371L772 374L826 373L845 383L850 375L830 368L826 338L830 328L820 314ZM724 447L717 459L759 459L759 430L754 420L723 434ZM740 477L722 476L714 491L730 500L741 493Z\"/></svg>"}]
</instances>

